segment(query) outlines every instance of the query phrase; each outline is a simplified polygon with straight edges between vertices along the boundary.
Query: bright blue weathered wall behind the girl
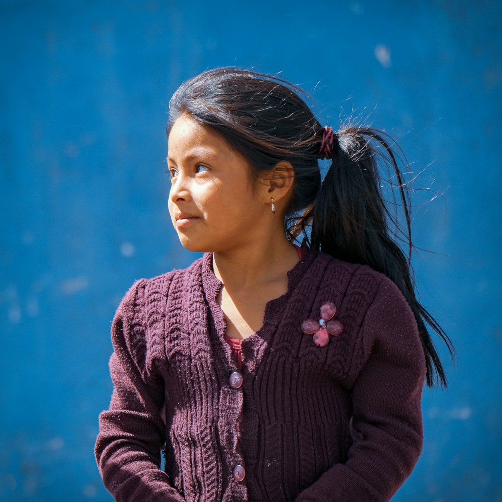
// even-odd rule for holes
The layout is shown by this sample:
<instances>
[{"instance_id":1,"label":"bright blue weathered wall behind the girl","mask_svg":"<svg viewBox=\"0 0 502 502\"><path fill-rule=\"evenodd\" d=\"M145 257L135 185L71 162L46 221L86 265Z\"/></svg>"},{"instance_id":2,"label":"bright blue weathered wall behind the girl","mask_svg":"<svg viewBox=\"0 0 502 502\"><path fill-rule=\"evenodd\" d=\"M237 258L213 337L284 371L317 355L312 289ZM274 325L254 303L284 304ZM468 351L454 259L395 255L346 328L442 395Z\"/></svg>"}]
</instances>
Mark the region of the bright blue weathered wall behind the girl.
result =
<instances>
[{"instance_id":1,"label":"bright blue weathered wall behind the girl","mask_svg":"<svg viewBox=\"0 0 502 502\"><path fill-rule=\"evenodd\" d=\"M331 125L398 138L417 174L415 257L454 340L425 446L393 500L502 500L499 2L1 2L0 498L111 500L93 457L114 310L186 266L166 107L204 69L301 84ZM440 194L429 202L435 194ZM497 475L498 472L498 475Z\"/></svg>"}]
</instances>

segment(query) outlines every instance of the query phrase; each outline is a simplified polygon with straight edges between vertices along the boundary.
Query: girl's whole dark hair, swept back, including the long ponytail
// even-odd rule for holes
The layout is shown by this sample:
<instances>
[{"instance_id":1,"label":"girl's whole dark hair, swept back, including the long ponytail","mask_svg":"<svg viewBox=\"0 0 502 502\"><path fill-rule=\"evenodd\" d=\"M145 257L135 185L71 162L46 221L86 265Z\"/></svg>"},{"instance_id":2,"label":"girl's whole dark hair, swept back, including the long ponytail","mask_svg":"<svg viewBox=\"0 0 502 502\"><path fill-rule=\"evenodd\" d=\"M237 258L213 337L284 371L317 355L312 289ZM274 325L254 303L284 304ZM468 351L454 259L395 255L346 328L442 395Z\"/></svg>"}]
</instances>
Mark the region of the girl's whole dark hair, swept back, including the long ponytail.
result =
<instances>
[{"instance_id":1,"label":"girl's whole dark hair, swept back, including the long ponytail","mask_svg":"<svg viewBox=\"0 0 502 502\"><path fill-rule=\"evenodd\" d=\"M451 340L419 303L411 270L410 201L388 136L370 128L347 126L335 135L331 167L324 179L318 158L324 129L306 104L307 94L288 81L236 68L217 68L184 82L171 98L169 134L187 113L219 134L249 163L254 181L280 161L294 169L292 195L286 208L290 240L304 234L313 249L340 260L368 265L399 287L417 320L427 366L427 384L446 376L426 324ZM337 140L337 141L336 141ZM381 165L393 168L405 217L405 228L386 205ZM310 236L310 238L309 238ZM404 241L408 255L398 245ZM435 371L434 371L435 370Z\"/></svg>"}]
</instances>

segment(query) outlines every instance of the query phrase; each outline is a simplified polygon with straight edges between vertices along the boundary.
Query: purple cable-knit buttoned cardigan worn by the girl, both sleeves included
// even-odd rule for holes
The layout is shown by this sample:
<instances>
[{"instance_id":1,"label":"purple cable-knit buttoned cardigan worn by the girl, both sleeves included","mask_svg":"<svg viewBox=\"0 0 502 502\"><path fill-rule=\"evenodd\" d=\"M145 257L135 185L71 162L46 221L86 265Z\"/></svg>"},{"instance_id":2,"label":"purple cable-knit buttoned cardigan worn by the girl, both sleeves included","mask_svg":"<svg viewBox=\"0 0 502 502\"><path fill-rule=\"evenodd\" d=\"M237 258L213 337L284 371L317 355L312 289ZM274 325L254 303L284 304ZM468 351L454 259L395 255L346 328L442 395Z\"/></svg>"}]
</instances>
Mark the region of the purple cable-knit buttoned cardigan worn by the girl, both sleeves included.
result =
<instances>
[{"instance_id":1,"label":"purple cable-knit buttoned cardigan worn by the girl, both sleeves included","mask_svg":"<svg viewBox=\"0 0 502 502\"><path fill-rule=\"evenodd\" d=\"M382 274L303 251L242 341L238 387L211 254L129 290L95 446L115 500L383 502L409 476L425 378L413 313ZM327 301L344 329L319 347L301 325Z\"/></svg>"}]
</instances>

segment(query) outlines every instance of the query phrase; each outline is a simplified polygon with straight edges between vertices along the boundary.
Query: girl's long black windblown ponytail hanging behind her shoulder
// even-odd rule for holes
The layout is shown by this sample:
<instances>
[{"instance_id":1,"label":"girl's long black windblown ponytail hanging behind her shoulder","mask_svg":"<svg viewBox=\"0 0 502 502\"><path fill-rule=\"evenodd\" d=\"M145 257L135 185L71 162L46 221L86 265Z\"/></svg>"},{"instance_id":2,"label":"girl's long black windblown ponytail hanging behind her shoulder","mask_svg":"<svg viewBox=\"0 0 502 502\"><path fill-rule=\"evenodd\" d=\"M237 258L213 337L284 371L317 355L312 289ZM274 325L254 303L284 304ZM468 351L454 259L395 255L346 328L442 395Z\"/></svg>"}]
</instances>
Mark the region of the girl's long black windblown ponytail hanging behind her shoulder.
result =
<instances>
[{"instance_id":1,"label":"girl's long black windblown ponytail hanging behind her shoulder","mask_svg":"<svg viewBox=\"0 0 502 502\"><path fill-rule=\"evenodd\" d=\"M415 295L409 195L396 156L384 136L387 135L381 131L362 127L347 127L334 135L332 152L329 151L331 166L314 203L291 233L310 233L311 248L340 260L367 265L389 277L403 293L417 320L425 353L427 385L432 387L439 380L446 387L445 371L426 325L444 340L452 359L454 348ZM326 157L325 137L326 133L321 140L323 157ZM378 162L379 157L383 162ZM399 190L404 229L384 200L379 169L382 163L394 171L396 182L391 185ZM407 256L398 245L399 241L406 243Z\"/></svg>"}]
</instances>

